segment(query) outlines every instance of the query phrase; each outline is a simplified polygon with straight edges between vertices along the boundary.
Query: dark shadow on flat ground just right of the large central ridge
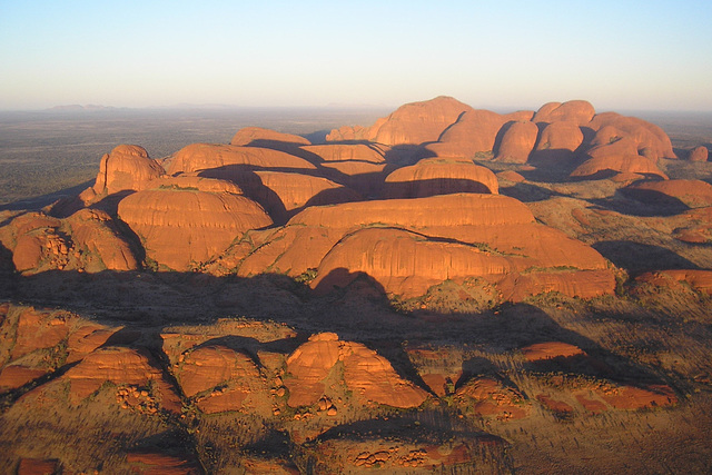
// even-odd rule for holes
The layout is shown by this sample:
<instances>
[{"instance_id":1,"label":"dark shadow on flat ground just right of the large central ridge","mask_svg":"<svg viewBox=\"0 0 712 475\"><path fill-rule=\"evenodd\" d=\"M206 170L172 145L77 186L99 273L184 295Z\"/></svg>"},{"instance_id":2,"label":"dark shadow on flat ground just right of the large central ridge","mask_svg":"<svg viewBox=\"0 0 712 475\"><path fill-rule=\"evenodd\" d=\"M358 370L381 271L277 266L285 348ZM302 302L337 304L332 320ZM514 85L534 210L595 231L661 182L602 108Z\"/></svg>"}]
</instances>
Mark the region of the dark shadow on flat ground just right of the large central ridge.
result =
<instances>
[{"instance_id":1,"label":"dark shadow on flat ground just right of the large central ridge","mask_svg":"<svg viewBox=\"0 0 712 475\"><path fill-rule=\"evenodd\" d=\"M634 275L650 270L699 269L699 267L664 247L630 240L607 240L592 245L603 257Z\"/></svg>"}]
</instances>

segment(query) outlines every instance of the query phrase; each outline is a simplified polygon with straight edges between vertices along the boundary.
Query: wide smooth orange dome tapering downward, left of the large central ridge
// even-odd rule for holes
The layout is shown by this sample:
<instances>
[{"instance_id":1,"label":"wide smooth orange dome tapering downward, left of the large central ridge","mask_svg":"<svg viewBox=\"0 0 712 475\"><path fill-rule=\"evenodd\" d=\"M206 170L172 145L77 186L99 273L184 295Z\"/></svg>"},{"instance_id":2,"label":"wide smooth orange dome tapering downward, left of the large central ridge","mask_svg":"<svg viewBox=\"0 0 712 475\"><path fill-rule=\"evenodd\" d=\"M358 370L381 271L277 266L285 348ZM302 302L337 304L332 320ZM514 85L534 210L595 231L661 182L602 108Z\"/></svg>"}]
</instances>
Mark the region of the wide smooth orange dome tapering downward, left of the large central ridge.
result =
<instances>
[{"instance_id":1,"label":"wide smooth orange dome tapering downward, left of the large central ridge","mask_svg":"<svg viewBox=\"0 0 712 475\"><path fill-rule=\"evenodd\" d=\"M255 201L230 194L146 190L123 198L118 215L158 265L187 270L217 257L248 229L271 225Z\"/></svg>"}]
</instances>

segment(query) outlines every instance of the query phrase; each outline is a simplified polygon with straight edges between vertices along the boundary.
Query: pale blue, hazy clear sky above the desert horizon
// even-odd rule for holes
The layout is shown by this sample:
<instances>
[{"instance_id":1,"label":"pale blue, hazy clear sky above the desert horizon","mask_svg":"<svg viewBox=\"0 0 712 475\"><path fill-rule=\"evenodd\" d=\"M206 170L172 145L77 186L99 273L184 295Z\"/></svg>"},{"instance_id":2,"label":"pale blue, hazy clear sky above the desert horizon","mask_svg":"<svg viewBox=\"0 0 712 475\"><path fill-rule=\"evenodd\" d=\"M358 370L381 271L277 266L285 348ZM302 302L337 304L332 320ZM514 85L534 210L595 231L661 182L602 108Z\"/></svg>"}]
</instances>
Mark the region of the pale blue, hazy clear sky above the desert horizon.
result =
<instances>
[{"instance_id":1,"label":"pale blue, hazy clear sky above the desert horizon","mask_svg":"<svg viewBox=\"0 0 712 475\"><path fill-rule=\"evenodd\" d=\"M0 0L0 110L712 111L712 1Z\"/></svg>"}]
</instances>

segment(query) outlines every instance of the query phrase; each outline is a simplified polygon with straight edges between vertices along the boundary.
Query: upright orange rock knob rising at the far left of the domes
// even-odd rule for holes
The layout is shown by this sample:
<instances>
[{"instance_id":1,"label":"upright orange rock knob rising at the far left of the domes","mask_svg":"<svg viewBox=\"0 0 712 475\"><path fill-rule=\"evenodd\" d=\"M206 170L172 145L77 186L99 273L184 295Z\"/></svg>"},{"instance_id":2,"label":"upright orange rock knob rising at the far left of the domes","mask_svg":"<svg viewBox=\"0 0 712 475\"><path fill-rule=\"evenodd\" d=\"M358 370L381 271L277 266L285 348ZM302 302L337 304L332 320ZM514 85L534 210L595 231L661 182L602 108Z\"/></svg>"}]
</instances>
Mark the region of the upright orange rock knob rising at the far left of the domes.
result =
<instances>
[{"instance_id":1,"label":"upright orange rock knob rising at the far left of the domes","mask_svg":"<svg viewBox=\"0 0 712 475\"><path fill-rule=\"evenodd\" d=\"M105 154L92 187L96 195L112 195L122 190L141 190L146 184L165 174L164 167L148 157L146 149L120 145Z\"/></svg>"}]
</instances>

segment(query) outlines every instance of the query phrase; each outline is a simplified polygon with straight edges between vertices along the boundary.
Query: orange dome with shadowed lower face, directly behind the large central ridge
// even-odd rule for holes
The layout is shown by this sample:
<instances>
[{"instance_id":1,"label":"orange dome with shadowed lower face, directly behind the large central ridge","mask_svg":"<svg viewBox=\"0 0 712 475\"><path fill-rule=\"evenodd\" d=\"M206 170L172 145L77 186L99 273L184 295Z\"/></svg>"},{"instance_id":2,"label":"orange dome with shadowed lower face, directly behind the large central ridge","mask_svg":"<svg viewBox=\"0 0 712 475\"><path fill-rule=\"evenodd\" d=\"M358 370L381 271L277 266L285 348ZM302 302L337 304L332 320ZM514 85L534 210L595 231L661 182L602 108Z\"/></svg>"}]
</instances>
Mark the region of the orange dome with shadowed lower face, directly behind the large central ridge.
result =
<instances>
[{"instance_id":1,"label":"orange dome with shadowed lower face, directly behind the large central ridge","mask_svg":"<svg viewBox=\"0 0 712 475\"><path fill-rule=\"evenodd\" d=\"M498 182L485 167L465 159L428 158L386 177L386 198L423 198L457 192L497 194Z\"/></svg>"}]
</instances>

